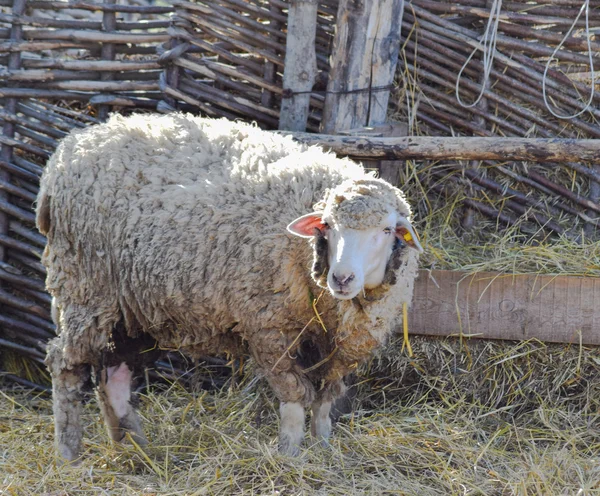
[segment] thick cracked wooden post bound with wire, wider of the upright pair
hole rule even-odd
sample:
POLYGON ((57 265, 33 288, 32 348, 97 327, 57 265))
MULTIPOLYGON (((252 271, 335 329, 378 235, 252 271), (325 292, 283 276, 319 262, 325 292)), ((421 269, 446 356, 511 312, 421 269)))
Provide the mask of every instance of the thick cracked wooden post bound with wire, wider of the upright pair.
POLYGON ((321 130, 382 124, 400 49, 403 0, 341 0, 321 130), (371 90, 372 88, 377 88, 371 90))

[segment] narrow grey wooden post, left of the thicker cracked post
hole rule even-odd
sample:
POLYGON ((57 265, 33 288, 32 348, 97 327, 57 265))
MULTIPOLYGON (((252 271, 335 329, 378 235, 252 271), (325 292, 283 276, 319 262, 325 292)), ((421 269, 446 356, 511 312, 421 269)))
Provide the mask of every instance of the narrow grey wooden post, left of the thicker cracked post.
POLYGON ((306 129, 310 91, 317 77, 316 32, 317 0, 292 0, 288 13, 279 129, 306 129))

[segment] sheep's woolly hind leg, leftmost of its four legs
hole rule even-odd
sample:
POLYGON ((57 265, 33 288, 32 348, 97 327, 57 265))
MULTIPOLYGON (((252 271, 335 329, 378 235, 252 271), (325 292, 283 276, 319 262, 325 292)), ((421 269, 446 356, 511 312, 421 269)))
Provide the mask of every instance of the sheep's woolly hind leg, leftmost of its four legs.
POLYGON ((89 368, 79 366, 52 374, 52 409, 55 443, 58 454, 72 462, 81 455, 81 410, 83 388, 89 368))

